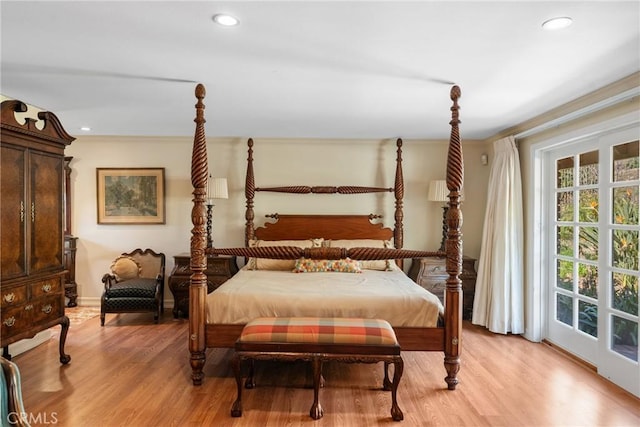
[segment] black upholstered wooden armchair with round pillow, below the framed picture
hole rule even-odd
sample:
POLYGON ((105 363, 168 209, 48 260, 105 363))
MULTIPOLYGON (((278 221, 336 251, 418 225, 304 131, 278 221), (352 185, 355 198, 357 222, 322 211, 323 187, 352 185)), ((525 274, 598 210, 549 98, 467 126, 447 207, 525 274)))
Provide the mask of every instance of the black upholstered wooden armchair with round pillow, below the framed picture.
POLYGON ((100 325, 106 313, 153 312, 154 321, 164 310, 165 256, 151 249, 123 253, 102 276, 104 291, 100 303, 100 325))

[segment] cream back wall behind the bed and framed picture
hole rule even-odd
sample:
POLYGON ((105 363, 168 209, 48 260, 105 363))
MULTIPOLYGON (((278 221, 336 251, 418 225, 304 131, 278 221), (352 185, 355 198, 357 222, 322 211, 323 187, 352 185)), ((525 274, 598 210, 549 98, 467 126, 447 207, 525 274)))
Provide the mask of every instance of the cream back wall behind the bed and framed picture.
MULTIPOLYGON (((64 124, 63 124, 64 125, 64 124)), ((464 138, 464 129, 462 129, 464 138)), ((77 136, 77 135, 76 135, 77 136)), ((152 248, 167 255, 169 276, 173 256, 188 252, 191 238, 192 138, 77 136, 66 150, 71 162, 72 233, 78 237, 76 281, 79 304, 99 305, 101 277, 120 253, 152 248), (166 224, 98 225, 96 168, 164 167, 166 224)), ((256 185, 363 185, 393 187, 396 146, 392 140, 273 140, 254 138, 256 185)), ((480 162, 490 146, 463 141, 465 156, 464 249, 478 257, 489 166, 480 162)), ((404 247, 435 250, 441 238, 442 210, 427 201, 430 180, 444 179, 446 141, 404 141, 404 247)), ((216 247, 243 246, 246 138, 208 141, 209 171, 226 177, 229 199, 214 208, 216 247)), ((267 213, 377 213, 393 227, 393 193, 366 195, 281 195, 257 193, 256 224, 267 213)), ((408 268, 407 263, 406 268, 408 268)), ((165 290, 167 305, 172 296, 165 290)))

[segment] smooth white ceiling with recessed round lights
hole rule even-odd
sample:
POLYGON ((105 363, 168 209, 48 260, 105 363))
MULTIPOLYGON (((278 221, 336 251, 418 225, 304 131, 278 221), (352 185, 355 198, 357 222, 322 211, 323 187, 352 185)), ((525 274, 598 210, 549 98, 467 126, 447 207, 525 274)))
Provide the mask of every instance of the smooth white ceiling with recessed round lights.
POLYGON ((67 132, 484 139, 640 70, 638 1, 6 1, 0 92, 67 132), (211 17, 227 12, 233 28, 211 17), (573 25, 544 31, 543 21, 573 25))

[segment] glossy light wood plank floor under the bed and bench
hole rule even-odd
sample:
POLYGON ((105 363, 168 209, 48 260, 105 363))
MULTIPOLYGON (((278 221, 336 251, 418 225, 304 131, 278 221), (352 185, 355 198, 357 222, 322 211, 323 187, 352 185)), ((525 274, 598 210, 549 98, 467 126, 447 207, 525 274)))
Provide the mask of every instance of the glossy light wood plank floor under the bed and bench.
POLYGON ((72 325, 71 363, 58 362, 57 336, 14 357, 32 416, 57 426, 639 426, 640 400, 545 344, 464 325, 457 390, 444 383, 441 353, 404 352, 398 391, 378 390, 382 365, 328 363, 320 392, 324 417, 309 417, 313 391, 304 364, 257 364, 258 387, 236 396, 230 350, 209 350, 205 380, 190 380, 187 321, 168 312, 107 315, 72 325))

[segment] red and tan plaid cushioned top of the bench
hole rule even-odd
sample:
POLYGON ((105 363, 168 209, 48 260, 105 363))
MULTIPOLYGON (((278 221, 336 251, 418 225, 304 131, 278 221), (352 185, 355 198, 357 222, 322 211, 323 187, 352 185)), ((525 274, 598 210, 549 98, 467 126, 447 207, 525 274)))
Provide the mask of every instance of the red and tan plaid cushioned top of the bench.
POLYGON ((342 317, 260 317, 245 325, 238 342, 398 345, 386 320, 342 317))

